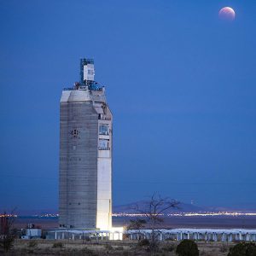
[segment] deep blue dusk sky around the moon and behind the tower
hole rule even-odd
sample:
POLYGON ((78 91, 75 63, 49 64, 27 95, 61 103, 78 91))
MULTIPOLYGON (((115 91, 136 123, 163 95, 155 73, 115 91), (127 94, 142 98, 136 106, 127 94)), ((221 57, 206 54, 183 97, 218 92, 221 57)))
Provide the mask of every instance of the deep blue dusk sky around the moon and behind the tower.
POLYGON ((81 57, 113 112, 113 205, 158 191, 256 208, 255 14, 255 0, 1 0, 0 211, 57 210, 61 90, 81 57))

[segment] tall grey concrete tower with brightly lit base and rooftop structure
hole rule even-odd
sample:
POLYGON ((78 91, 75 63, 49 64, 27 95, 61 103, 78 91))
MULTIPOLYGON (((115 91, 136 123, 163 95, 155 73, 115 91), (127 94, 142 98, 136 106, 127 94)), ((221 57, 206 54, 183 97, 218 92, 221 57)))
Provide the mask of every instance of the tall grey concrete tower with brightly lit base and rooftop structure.
POLYGON ((59 224, 112 227, 112 113, 94 61, 81 59, 80 82, 61 95, 59 224))

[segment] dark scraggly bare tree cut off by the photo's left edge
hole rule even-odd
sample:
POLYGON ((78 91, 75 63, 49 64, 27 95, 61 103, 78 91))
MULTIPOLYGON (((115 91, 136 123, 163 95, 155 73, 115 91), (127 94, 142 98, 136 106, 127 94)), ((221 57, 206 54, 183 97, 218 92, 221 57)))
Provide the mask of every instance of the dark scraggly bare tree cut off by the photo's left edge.
POLYGON ((0 247, 3 247, 4 251, 9 251, 14 245, 15 241, 15 210, 10 214, 6 212, 1 215, 1 226, 0 226, 0 247))

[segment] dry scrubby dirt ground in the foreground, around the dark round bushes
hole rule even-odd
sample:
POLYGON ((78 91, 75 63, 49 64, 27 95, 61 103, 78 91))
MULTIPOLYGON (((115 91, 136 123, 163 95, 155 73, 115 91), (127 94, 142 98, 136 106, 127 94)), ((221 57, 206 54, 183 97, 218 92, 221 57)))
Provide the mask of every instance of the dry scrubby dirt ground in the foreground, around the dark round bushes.
MULTIPOLYGON (((0 251, 0 255, 72 255, 72 256, 101 256, 101 255, 170 255, 174 256, 175 248, 178 241, 165 241, 160 243, 160 249, 157 253, 148 253, 147 247, 137 245, 137 241, 100 241, 90 242, 84 241, 64 241, 64 240, 36 240, 24 241, 16 240, 14 247, 9 253, 0 251), (59 244, 58 244, 59 243, 59 244), (54 247, 55 245, 55 247, 54 247), (62 245, 62 247, 58 247, 62 245)), ((198 241, 201 256, 226 256, 229 247, 234 246, 234 243, 222 242, 205 242, 198 241)))

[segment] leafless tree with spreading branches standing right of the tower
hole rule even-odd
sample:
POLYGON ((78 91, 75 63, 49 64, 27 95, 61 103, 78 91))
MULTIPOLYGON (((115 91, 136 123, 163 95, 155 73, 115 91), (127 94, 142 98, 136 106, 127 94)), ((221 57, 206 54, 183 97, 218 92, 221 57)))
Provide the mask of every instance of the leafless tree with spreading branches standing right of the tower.
POLYGON ((140 212, 146 218, 151 230, 149 250, 154 252, 157 250, 159 241, 159 231, 156 230, 157 225, 164 222, 164 216, 168 210, 175 208, 179 202, 168 197, 163 198, 159 193, 154 192, 149 201, 145 201, 143 205, 136 205, 134 209, 140 212))

